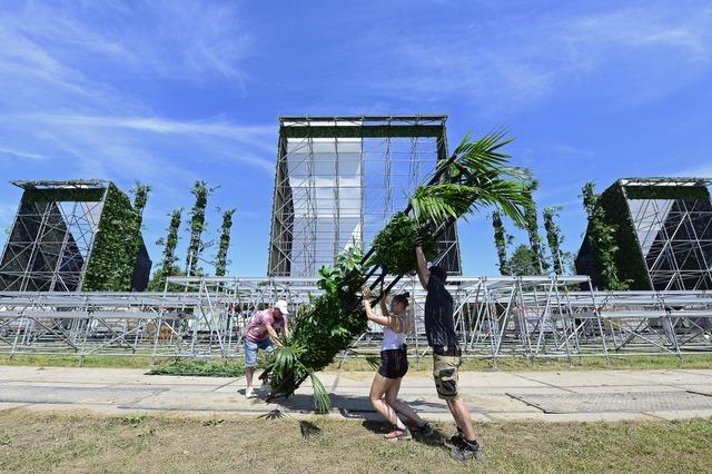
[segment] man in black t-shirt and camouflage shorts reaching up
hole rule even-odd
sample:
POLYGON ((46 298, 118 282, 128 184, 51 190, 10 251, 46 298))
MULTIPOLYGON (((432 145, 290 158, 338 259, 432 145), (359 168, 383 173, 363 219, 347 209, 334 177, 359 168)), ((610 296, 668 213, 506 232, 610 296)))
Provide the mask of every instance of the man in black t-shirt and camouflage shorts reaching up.
POLYGON ((478 458, 479 444, 472 426, 472 415, 457 392, 457 369, 462 363, 461 350, 453 318, 453 295, 445 288, 447 273, 444 268, 427 267, 423 249, 416 243, 417 273, 421 285, 427 292, 425 298, 425 334, 433 348, 433 377, 437 396, 447 403, 457 434, 451 438, 455 447, 451 456, 459 461, 478 458))

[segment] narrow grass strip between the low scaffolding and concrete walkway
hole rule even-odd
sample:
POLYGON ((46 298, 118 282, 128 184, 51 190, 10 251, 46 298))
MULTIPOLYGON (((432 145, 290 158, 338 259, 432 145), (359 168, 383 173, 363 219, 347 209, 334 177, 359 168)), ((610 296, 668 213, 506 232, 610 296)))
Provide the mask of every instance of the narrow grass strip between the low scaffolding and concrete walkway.
MULTIPOLYGON (((375 353, 374 353, 375 354, 375 353)), ((158 366, 166 366, 175 362, 186 362, 187 359, 165 358, 159 359, 158 366)), ((236 357, 233 363, 241 363, 241 357, 236 357)), ((215 365, 225 365, 216 361, 215 365)), ((411 358, 412 372, 431 372, 433 368, 429 356, 416 361, 411 358)), ((0 365, 28 365, 44 367, 122 367, 122 368, 151 368, 151 359, 146 356, 91 356, 79 361, 76 356, 50 356, 50 355, 16 355, 10 358, 8 355, 0 355, 0 365)), ((573 364, 566 359, 537 359, 534 364, 521 357, 501 358, 497 362, 500 371, 528 372, 528 371, 591 371, 591 369, 664 369, 664 368, 712 368, 712 354, 695 354, 684 356, 683 364, 678 357, 672 355, 656 356, 626 356, 611 357, 610 365, 606 365, 603 357, 576 357, 573 364)), ((349 372, 373 372, 363 357, 352 357, 336 362, 326 368, 329 371, 349 372)), ((494 371, 492 362, 488 359, 465 359, 462 371, 494 371)), ((219 371, 218 371, 219 372, 219 371)))

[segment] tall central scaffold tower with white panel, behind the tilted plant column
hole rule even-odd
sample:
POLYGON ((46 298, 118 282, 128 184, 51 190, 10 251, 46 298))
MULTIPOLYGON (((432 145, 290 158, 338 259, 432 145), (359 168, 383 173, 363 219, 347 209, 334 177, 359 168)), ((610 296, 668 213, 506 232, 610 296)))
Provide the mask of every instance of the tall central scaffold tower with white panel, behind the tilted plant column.
MULTIPOLYGON (((447 158, 446 116, 280 117, 268 275, 314 277, 350 243, 369 248, 447 158)), ((439 239, 452 275, 456 227, 439 239)))

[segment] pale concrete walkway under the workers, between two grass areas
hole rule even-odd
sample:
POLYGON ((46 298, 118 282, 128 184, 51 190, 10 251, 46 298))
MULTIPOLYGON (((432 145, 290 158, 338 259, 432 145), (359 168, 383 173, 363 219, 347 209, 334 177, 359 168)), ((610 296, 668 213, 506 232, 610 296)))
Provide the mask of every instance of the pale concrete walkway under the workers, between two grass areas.
MULTIPOLYGON (((326 373, 332 416, 376 418, 367 399, 372 373, 326 373)), ((140 369, 0 366, 0 411, 106 414, 276 415, 312 413, 305 384, 291 398, 246 399, 244 378, 149 376, 140 369)), ((712 369, 467 372, 462 393, 477 422, 589 422, 712 417, 712 369)), ((451 419, 427 374, 408 374, 400 397, 427 419, 451 419)))

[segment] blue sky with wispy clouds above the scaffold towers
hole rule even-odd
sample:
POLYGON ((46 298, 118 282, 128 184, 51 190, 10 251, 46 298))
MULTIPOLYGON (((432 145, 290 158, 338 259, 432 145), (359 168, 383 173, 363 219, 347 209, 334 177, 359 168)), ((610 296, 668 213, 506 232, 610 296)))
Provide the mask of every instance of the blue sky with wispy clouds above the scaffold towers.
MULTIPOLYGON (((3 2, 0 226, 10 179, 140 179, 157 261, 205 179, 212 231, 238 209, 231 273, 264 275, 279 115, 447 113, 451 146, 511 130, 573 251, 584 181, 712 176, 711 83, 703 1, 3 2)), ((485 216, 459 236, 465 273, 496 274, 485 216)))

